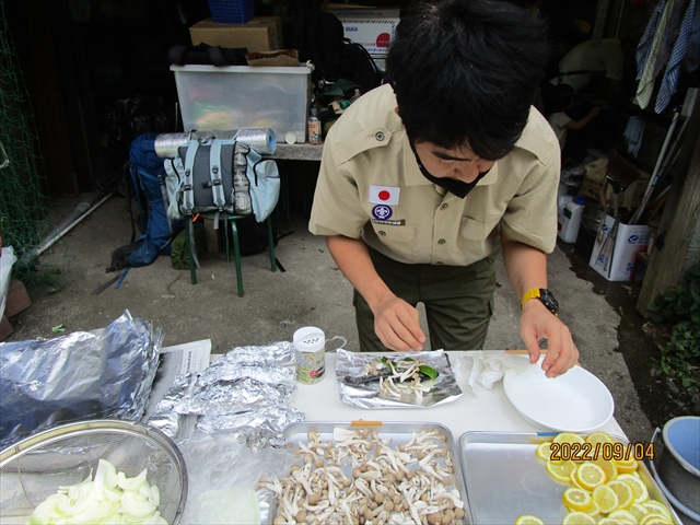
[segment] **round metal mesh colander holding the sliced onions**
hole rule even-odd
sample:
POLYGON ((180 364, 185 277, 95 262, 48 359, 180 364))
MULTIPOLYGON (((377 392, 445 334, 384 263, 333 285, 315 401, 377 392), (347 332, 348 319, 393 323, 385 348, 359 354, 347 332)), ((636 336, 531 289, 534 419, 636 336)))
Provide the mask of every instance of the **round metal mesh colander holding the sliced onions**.
POLYGON ((161 492, 159 511, 179 523, 187 498, 182 454, 163 432, 132 421, 101 419, 69 423, 32 435, 0 453, 0 523, 26 524, 34 509, 59 486, 94 475, 107 459, 127 477, 147 469, 161 492))

